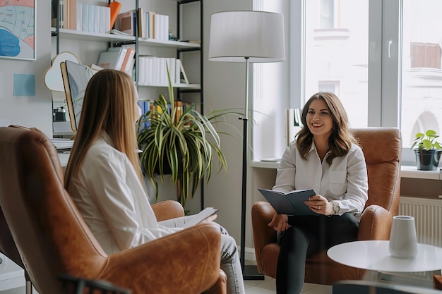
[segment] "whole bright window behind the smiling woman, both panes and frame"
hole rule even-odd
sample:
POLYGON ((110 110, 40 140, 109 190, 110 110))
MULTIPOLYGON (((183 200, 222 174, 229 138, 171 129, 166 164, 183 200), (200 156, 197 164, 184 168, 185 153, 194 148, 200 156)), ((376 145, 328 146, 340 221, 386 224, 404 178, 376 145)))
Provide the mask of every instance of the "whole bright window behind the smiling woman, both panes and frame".
POLYGON ((402 163, 414 164, 414 134, 442 131, 442 1, 291 4, 297 20, 290 48, 296 87, 290 97, 301 101, 290 103, 302 106, 319 90, 335 92, 352 127, 399 127, 402 163))

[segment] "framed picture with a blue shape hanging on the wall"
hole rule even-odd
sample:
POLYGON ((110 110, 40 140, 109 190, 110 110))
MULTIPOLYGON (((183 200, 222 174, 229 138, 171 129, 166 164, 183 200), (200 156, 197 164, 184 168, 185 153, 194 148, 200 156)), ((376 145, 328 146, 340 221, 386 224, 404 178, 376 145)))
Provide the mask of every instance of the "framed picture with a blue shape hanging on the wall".
POLYGON ((35 60, 35 1, 0 1, 0 58, 35 60))

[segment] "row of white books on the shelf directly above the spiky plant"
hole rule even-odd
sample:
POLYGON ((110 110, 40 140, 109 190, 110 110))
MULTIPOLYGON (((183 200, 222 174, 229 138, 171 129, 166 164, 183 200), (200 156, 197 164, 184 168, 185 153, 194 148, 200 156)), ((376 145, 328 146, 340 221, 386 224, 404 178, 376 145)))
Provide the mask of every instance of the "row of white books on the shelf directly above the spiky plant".
POLYGON ((138 83, 140 85, 168 85, 167 67, 172 85, 189 84, 183 63, 172 57, 139 56, 138 83))

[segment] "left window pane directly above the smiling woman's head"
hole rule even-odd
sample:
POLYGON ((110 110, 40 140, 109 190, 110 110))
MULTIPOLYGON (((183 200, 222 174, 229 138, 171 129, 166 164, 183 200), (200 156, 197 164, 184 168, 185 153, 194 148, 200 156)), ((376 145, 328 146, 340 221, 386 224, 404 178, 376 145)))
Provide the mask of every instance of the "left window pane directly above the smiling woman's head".
POLYGON ((336 2, 340 5, 335 7, 334 0, 305 1, 304 98, 333 92, 347 109, 352 126, 366 127, 369 0, 336 2))

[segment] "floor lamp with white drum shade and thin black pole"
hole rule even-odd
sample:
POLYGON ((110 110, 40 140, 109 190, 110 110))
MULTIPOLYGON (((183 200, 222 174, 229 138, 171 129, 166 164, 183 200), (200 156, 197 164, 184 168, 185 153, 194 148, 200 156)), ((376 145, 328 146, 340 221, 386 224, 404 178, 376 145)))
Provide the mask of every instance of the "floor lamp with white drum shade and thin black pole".
POLYGON ((284 17, 265 11, 214 13, 210 23, 209 60, 246 63, 246 107, 243 121, 241 268, 245 280, 261 280, 255 266, 244 264, 246 247, 247 147, 249 145, 249 63, 285 60, 284 17))

